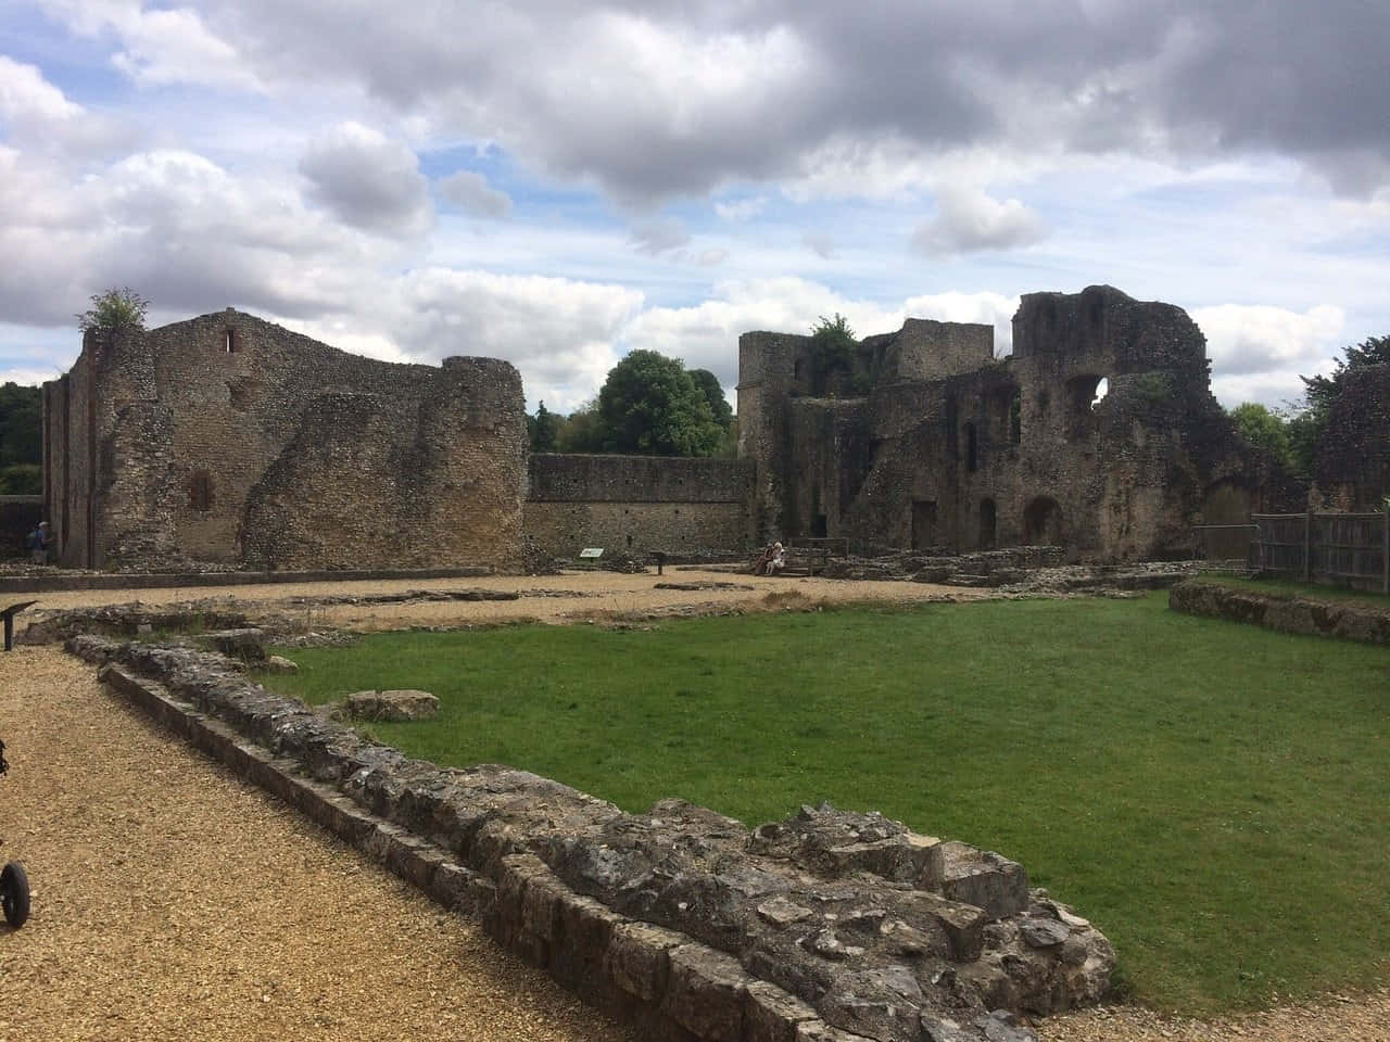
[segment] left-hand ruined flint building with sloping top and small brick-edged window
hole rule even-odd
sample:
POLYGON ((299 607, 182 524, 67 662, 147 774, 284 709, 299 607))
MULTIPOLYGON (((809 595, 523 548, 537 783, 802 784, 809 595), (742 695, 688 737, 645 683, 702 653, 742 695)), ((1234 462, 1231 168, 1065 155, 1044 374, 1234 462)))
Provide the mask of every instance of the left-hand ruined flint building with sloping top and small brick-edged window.
POLYGON ((228 308, 107 342, 44 385, 70 567, 510 567, 525 406, 505 361, 374 361, 228 308))

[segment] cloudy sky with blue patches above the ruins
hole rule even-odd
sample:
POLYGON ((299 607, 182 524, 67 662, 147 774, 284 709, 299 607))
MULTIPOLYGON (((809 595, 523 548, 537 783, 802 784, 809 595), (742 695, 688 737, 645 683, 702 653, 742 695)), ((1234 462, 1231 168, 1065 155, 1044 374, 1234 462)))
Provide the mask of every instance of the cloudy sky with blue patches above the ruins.
POLYGON ((88 297, 517 364, 1187 308, 1227 406, 1390 333, 1384 0, 3 0, 0 379, 88 297))

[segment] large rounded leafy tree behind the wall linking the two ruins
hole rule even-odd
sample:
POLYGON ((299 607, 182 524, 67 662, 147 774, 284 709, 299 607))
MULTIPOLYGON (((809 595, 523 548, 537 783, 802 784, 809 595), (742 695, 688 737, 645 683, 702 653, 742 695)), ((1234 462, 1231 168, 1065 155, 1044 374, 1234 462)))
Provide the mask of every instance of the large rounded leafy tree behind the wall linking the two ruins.
POLYGON ((723 428, 677 358, 630 353, 599 390, 603 449, 649 456, 712 456, 723 428))

